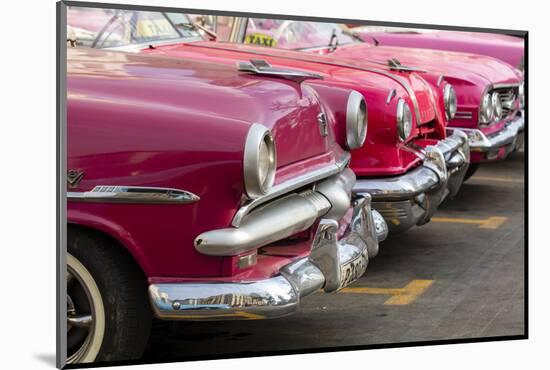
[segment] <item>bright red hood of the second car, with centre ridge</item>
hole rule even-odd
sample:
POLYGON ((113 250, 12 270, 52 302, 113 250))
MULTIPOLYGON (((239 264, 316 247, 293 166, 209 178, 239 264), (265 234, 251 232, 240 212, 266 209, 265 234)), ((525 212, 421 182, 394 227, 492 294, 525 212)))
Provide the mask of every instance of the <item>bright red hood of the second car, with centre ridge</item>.
POLYGON ((288 67, 321 74, 325 78, 348 79, 354 84, 369 84, 385 96, 395 85, 406 90, 421 123, 436 118, 436 103, 428 84, 415 73, 390 71, 386 66, 339 57, 303 53, 292 50, 262 48, 250 45, 220 42, 193 42, 163 45, 144 53, 180 58, 203 58, 235 65, 250 59, 268 59, 278 67, 288 67), (391 80, 391 81, 389 81, 391 80))

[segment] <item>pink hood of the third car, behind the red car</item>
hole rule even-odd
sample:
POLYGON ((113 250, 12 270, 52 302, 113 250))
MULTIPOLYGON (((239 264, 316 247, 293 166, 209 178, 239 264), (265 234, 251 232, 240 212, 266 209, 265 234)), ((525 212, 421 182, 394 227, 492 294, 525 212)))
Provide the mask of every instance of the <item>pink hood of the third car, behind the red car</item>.
POLYGON ((462 79, 482 86, 519 82, 516 72, 510 65, 483 55, 368 44, 341 47, 335 54, 353 59, 366 58, 382 64, 387 63, 389 59, 397 58, 401 64, 409 67, 417 67, 428 73, 462 79))

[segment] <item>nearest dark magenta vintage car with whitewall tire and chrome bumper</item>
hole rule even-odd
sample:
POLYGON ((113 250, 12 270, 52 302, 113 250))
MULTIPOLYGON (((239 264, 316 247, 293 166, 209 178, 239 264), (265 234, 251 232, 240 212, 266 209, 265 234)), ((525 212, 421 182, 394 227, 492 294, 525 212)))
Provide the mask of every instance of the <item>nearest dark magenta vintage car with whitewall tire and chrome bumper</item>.
POLYGON ((279 317, 363 275, 387 230, 332 128, 363 144, 366 106, 310 78, 68 49, 69 363, 139 358, 152 314, 279 317))

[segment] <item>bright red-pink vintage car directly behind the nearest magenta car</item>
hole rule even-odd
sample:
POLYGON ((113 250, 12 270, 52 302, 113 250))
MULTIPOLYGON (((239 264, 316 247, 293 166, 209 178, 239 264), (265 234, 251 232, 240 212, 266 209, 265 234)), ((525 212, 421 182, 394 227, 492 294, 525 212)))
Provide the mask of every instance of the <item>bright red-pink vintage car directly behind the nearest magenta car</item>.
POLYGON ((336 107, 336 138, 340 145, 352 149, 351 168, 359 178, 354 191, 372 195, 373 207, 382 213, 392 232, 428 222, 445 196, 455 195, 463 181, 469 149, 464 133, 446 136, 445 115, 454 110, 453 89, 447 82, 432 88, 414 71, 392 71, 387 66, 294 51, 197 41, 197 30, 183 14, 120 11, 113 17, 106 17, 108 26, 96 27, 102 31, 93 40, 77 43, 238 65, 243 73, 269 76, 277 75, 279 69, 291 69, 317 76, 308 84, 328 106, 336 107), (138 31, 141 22, 155 24, 158 29, 149 28, 149 33, 143 34, 138 31), (340 91, 349 89, 357 92, 356 102, 364 100, 365 109, 368 106, 369 128, 360 133, 366 137, 364 146, 349 145, 346 135, 350 123, 342 119, 346 102, 341 100, 340 91))

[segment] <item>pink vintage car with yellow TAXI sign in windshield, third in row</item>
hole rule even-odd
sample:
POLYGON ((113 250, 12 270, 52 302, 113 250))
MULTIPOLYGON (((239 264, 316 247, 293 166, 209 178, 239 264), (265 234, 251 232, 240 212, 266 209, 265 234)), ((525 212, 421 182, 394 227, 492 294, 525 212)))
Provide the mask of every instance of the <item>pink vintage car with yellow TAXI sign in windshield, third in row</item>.
POLYGON ((482 55, 376 46, 333 23, 242 18, 234 24, 230 41, 330 54, 390 69, 411 68, 435 86, 451 83, 457 108, 448 117, 448 127, 466 132, 472 151, 466 178, 479 163, 503 159, 523 144, 523 75, 507 63, 482 55))

